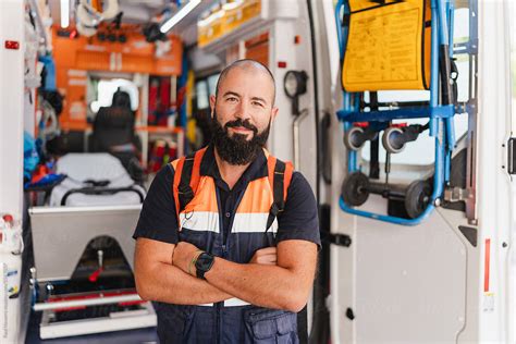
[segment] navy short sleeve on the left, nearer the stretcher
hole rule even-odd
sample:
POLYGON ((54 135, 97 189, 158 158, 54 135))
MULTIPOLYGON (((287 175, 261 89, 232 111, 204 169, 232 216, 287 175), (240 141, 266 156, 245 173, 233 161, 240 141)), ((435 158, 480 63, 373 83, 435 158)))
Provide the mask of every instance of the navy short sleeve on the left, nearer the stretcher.
POLYGON ((146 237, 177 244, 177 216, 172 195, 173 180, 174 171, 170 164, 156 174, 144 200, 133 238, 146 237))

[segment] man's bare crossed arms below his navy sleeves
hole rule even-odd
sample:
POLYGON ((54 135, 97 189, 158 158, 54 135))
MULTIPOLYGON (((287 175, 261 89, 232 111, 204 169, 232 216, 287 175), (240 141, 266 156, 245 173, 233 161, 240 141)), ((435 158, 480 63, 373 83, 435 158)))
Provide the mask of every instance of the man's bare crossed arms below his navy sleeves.
MULTIPOLYGON (((136 290, 143 299, 179 305, 218 303, 237 297, 256 306, 299 311, 316 271, 317 245, 288 239, 257 250, 249 263, 216 258, 206 281, 188 274, 197 248, 139 237, 136 241, 136 290)), ((195 269, 194 269, 195 270, 195 269)), ((195 272, 194 272, 195 273, 195 272)))

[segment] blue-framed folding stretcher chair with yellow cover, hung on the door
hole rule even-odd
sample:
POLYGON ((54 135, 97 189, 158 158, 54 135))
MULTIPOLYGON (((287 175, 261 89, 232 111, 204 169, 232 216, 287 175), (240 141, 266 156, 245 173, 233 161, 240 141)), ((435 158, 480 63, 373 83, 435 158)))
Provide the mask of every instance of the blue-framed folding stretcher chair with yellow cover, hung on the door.
POLYGON ((344 126, 348 172, 342 185, 341 209, 416 225, 442 202, 455 146, 453 116, 462 111, 454 97, 452 4, 444 0, 340 0, 335 20, 344 89, 343 108, 336 114, 344 126), (429 89, 430 100, 385 105, 372 99, 377 90, 395 89, 429 89), (370 99, 365 106, 366 93, 370 99), (393 123, 411 119, 427 119, 428 123, 393 123), (391 155, 401 152, 425 131, 434 138, 433 175, 409 184, 390 184, 391 155), (386 151, 384 182, 374 181, 378 172, 374 177, 363 173, 358 153, 368 140, 378 145, 380 133, 386 151), (383 214, 360 209, 370 194, 403 204, 402 211, 393 214, 389 209, 383 214))

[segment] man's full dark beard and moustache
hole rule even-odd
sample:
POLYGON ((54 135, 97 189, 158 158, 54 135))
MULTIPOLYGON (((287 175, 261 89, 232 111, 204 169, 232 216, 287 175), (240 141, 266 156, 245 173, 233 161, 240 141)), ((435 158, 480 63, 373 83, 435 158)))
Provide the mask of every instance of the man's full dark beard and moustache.
POLYGON ((258 128, 250 124, 249 120, 242 121, 241 119, 230 121, 222 127, 217 120, 217 113, 214 113, 211 119, 212 143, 222 160, 230 164, 247 164, 254 161, 266 146, 270 127, 271 123, 269 122, 267 128, 258 134, 258 128), (247 135, 236 133, 230 136, 228 130, 235 126, 243 126, 253 131, 253 138, 247 140, 247 135))

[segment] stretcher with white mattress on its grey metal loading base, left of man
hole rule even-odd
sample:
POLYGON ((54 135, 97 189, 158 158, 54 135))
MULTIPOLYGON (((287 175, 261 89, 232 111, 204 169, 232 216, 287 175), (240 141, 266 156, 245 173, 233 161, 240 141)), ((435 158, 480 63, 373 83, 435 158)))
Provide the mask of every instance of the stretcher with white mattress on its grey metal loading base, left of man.
POLYGON ((56 172, 66 177, 50 206, 29 209, 40 337, 155 327, 133 274, 132 234, 145 189, 109 153, 69 153, 56 172))

